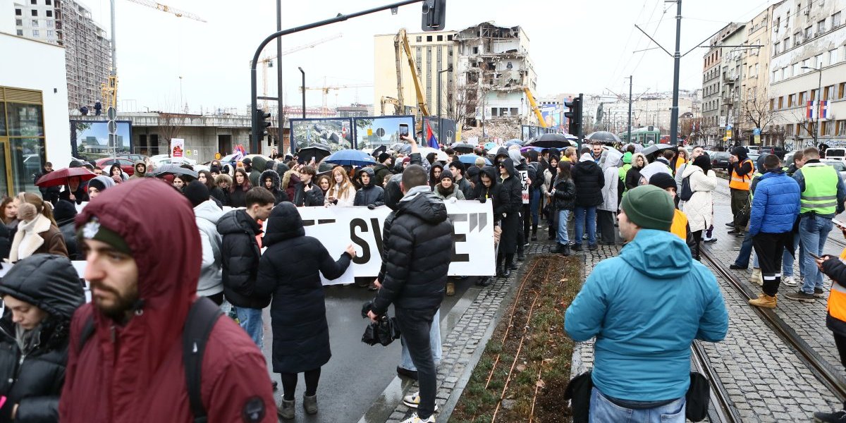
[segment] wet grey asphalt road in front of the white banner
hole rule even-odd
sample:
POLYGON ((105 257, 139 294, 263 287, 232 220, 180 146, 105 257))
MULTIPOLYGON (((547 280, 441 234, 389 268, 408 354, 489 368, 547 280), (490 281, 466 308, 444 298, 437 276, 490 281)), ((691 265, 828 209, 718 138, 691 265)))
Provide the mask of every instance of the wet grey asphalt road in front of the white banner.
MULTIPOLYGON (((455 283, 455 295, 446 297, 441 305, 441 338, 448 334, 448 313, 464 295, 468 297, 478 293, 475 288, 476 277, 465 280, 450 279, 455 283)), ((302 405, 305 381, 299 375, 297 383, 296 417, 285 422, 354 422, 358 421, 382 394, 382 391, 397 376, 400 343, 395 341, 387 347, 370 346, 361 342, 368 321, 361 318, 361 305, 375 296, 375 292, 354 285, 349 287, 331 286, 325 288, 327 321, 329 322, 329 342, 332 346, 332 359, 321 369, 320 385, 317 388, 317 404, 320 411, 316 415, 306 415, 302 405)), ((470 299, 472 301, 472 299, 470 299)), ((389 315, 393 316, 392 310, 389 315)), ((264 310, 264 349, 267 368, 272 371, 272 327, 270 307, 264 310)), ((272 373, 274 381, 279 382, 277 374, 272 373)), ((282 398, 282 383, 274 395, 277 404, 282 398)), ((275 410, 273 410, 275 413, 275 410)))

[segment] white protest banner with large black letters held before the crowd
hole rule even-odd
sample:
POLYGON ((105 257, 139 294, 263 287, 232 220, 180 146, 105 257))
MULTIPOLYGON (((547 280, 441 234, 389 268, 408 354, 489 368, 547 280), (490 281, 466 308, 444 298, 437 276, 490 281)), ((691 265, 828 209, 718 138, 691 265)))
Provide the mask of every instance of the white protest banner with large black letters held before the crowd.
MULTIPOLYGON (((492 276, 495 273, 493 250, 493 211, 491 202, 447 202, 453 221, 455 250, 449 265, 450 276, 492 276)), ((299 207, 305 234, 319 239, 332 257, 338 257, 353 244, 357 256, 342 277, 326 285, 353 283, 354 277, 376 277, 382 266, 382 228, 391 212, 387 206, 299 207)))

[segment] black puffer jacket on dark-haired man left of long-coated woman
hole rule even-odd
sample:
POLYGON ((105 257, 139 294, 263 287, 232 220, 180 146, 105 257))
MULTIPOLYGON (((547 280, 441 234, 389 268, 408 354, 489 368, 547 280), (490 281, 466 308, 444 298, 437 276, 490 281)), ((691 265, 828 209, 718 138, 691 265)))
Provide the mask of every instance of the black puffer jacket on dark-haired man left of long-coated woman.
POLYGON ((246 211, 233 210, 217 221, 217 232, 223 237, 223 295, 238 307, 265 308, 270 296, 254 292, 261 257, 255 241, 255 235, 261 233, 259 224, 246 211))

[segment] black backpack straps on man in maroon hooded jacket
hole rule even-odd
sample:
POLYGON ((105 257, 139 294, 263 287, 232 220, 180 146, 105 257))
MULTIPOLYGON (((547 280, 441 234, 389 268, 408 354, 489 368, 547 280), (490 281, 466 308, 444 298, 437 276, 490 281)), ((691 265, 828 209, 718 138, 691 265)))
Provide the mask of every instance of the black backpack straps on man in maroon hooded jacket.
MULTIPOLYGON (((182 329, 182 362, 185 366, 185 382, 188 387, 188 399, 195 423, 206 422, 206 407, 200 394, 202 382, 203 353, 206 341, 217 318, 223 313, 211 299, 200 297, 188 311, 185 326, 182 329)), ((94 334, 94 316, 88 316, 80 332, 80 343, 76 346, 77 354, 85 347, 85 342, 94 334)))

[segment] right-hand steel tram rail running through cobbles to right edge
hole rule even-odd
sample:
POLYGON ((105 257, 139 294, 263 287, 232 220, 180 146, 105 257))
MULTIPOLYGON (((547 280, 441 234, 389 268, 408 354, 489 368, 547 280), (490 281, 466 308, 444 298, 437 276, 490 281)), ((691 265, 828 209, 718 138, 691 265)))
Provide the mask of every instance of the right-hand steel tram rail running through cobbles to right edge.
MULTIPOLYGON (((719 261, 717 257, 711 254, 708 248, 703 248, 701 254, 707 261, 711 262, 711 267, 719 274, 720 277, 726 280, 738 294, 745 300, 757 298, 752 289, 742 283, 739 277, 735 276, 733 272, 719 261)), ((751 306, 750 306, 751 307, 751 306)), ((790 325, 782 320, 776 314, 775 310, 761 307, 752 307, 758 316, 766 322, 766 325, 771 327, 773 332, 776 332, 779 338, 787 343, 790 348, 794 349, 799 359, 805 362, 810 371, 816 378, 828 388, 829 391, 838 397, 838 401, 843 402, 846 399, 846 380, 840 375, 840 371, 832 367, 825 359, 821 357, 808 343, 802 339, 799 334, 794 331, 790 325)))

